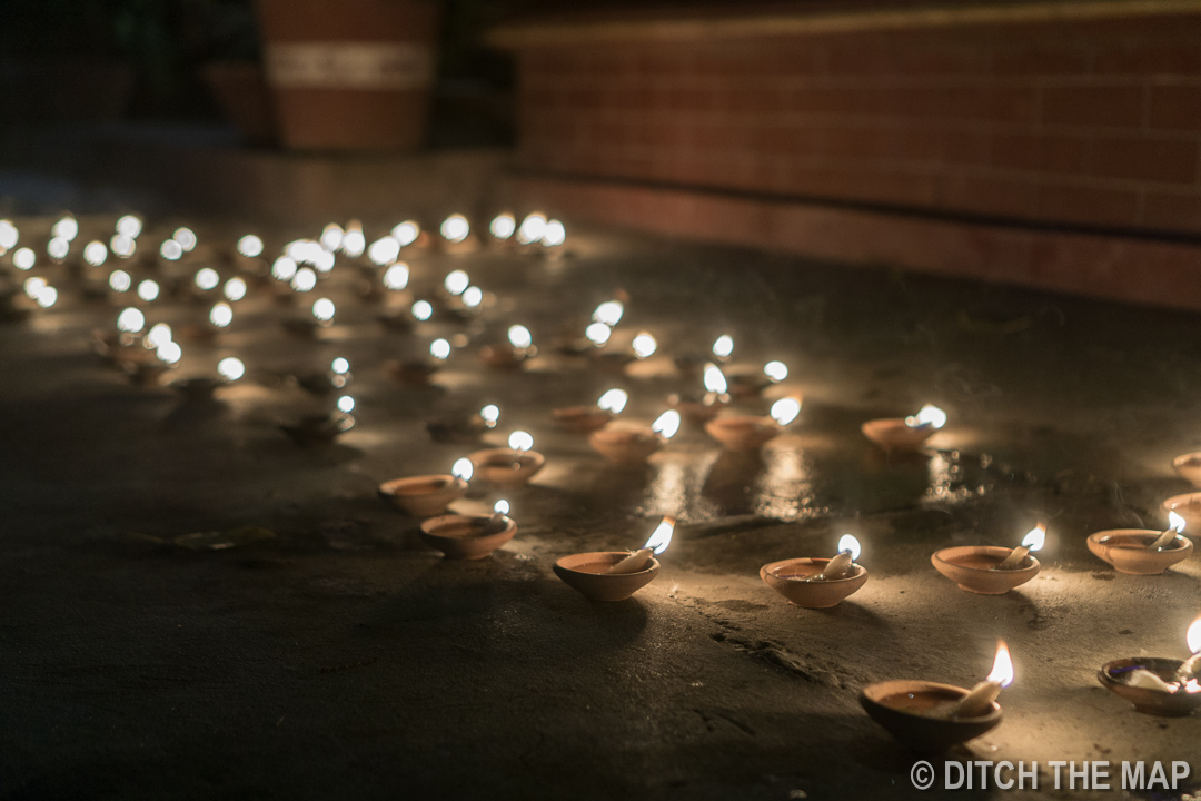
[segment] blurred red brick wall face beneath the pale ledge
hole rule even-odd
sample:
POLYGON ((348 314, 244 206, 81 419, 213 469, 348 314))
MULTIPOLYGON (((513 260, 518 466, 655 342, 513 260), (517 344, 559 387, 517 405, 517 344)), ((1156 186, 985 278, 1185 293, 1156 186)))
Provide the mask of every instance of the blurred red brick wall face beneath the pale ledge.
POLYGON ((1201 13, 518 61, 539 171, 1201 234, 1201 13))

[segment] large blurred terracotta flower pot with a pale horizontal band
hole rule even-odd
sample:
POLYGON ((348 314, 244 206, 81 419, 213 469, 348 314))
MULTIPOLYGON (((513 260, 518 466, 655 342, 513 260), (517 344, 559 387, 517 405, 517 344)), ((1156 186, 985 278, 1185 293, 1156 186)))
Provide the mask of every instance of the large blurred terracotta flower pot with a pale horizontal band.
POLYGON ((258 0, 280 138, 295 149, 422 144, 438 5, 423 0, 258 0))

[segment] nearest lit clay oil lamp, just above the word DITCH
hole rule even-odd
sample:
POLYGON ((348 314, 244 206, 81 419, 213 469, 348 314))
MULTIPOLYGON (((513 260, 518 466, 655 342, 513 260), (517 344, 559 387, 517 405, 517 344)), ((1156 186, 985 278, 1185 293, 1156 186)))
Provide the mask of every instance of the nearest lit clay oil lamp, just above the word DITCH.
POLYGON ((901 745, 938 753, 996 728, 1002 719, 997 697, 1012 681, 1014 663, 1002 641, 992 673, 970 691, 932 681, 882 681, 865 687, 859 703, 901 745))

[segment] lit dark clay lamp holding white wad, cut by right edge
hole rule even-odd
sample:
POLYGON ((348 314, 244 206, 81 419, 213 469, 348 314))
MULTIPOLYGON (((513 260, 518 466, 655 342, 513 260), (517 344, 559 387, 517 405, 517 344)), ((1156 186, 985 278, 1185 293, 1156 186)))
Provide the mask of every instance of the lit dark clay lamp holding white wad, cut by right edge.
POLYGON ((1187 634, 1188 659, 1116 659, 1097 673, 1101 685, 1146 715, 1183 717, 1201 706, 1201 618, 1187 634))

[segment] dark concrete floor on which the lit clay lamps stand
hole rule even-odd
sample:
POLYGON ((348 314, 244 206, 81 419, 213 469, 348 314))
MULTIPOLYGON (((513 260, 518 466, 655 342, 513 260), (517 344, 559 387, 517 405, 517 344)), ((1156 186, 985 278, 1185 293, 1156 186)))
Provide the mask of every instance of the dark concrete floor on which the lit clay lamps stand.
MULTIPOLYGON (((1201 721, 1139 715, 1095 673, 1187 656, 1201 568, 1118 575, 1083 542, 1160 526, 1158 503, 1188 489, 1170 460, 1201 449, 1195 316, 605 232, 573 232, 572 250, 414 257, 416 295, 462 268, 496 300, 482 324, 413 335, 375 322, 348 268, 322 286, 339 304, 324 341, 289 339, 279 318, 295 312, 251 295, 215 345, 184 345, 181 376, 246 361, 252 379, 216 404, 102 365, 89 336, 116 307, 50 270, 59 306, 0 334, 0 796, 938 797, 912 789, 915 757, 858 693, 970 686, 998 638, 1017 668, 1005 721, 950 759, 1178 759, 1196 777, 1201 721), (637 419, 692 387, 665 355, 615 379, 552 353, 564 322, 579 330, 619 289, 631 301, 615 340, 645 328, 670 354, 730 333, 735 363, 784 359, 793 375, 773 391, 805 393, 789 434, 747 459, 685 430, 643 471, 557 432, 552 407, 610 385, 637 419), (480 367, 477 343, 513 322, 544 355, 480 367), (437 385, 383 373, 454 333, 472 345, 437 385), (319 402, 273 375, 336 355, 353 365, 359 425, 299 449, 274 424, 319 402), (466 455, 424 424, 485 402, 502 410, 490 436, 532 431, 548 466, 507 495, 509 545, 446 562, 375 489, 466 455), (861 437, 861 422, 925 402, 950 414, 927 456, 889 459, 861 437), (640 544, 669 513, 676 540, 633 599, 590 603, 551 573, 566 554, 640 544), (930 564, 951 544, 1016 544, 1040 516, 1044 570, 1020 591, 969 594, 930 564), (171 542, 247 525, 274 536, 171 542), (848 531, 872 578, 839 606, 797 609, 759 580, 766 562, 832 555, 848 531)), ((204 313, 154 309, 151 322, 204 313)), ((479 488, 456 506, 498 497, 479 488)))

